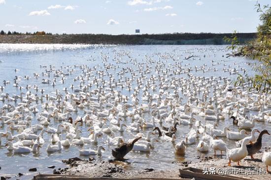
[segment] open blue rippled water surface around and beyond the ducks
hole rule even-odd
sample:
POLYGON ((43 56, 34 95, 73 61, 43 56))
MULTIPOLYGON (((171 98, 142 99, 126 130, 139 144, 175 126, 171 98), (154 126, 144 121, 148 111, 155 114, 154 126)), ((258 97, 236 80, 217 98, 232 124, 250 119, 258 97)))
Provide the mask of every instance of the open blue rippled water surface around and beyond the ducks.
MULTIPOLYGON (((104 71, 103 64, 112 64, 116 67, 116 69, 109 69, 107 72, 115 76, 116 79, 119 76, 116 72, 120 72, 127 67, 133 68, 135 71, 137 67, 134 65, 135 60, 137 62, 142 63, 143 70, 146 70, 145 63, 149 59, 153 60, 153 63, 149 64, 149 69, 151 70, 150 73, 146 73, 146 79, 150 77, 152 74, 158 76, 157 72, 155 72, 155 67, 157 67, 157 62, 159 61, 160 68, 166 69, 173 69, 176 70, 178 67, 177 65, 181 64, 184 68, 192 67, 193 73, 197 76, 222 76, 222 77, 230 77, 233 80, 236 79, 237 75, 230 75, 229 72, 222 71, 223 68, 226 69, 233 69, 237 68, 238 70, 244 68, 247 70, 248 74, 253 74, 254 72, 251 68, 247 65, 247 63, 251 60, 242 58, 242 57, 231 57, 226 58, 226 54, 228 50, 226 50, 226 46, 215 46, 215 45, 137 45, 137 46, 103 46, 103 45, 21 45, 21 44, 14 44, 14 45, 7 45, 7 44, 0 44, 0 85, 2 85, 3 80, 10 80, 11 84, 6 85, 4 89, 4 93, 9 93, 10 96, 13 94, 20 94, 20 90, 12 86, 13 79, 15 75, 24 77, 25 75, 30 75, 33 77, 33 73, 39 73, 40 77, 38 79, 30 78, 29 80, 25 80, 22 78, 22 81, 19 82, 20 86, 26 87, 27 85, 34 85, 36 84, 39 89, 44 89, 45 94, 52 94, 57 89, 59 89, 63 94, 63 88, 69 87, 71 84, 74 86, 78 86, 80 84, 79 81, 74 82, 74 77, 81 74, 79 68, 74 68, 77 70, 74 74, 66 76, 67 79, 65 83, 62 84, 60 82, 60 78, 57 79, 57 85, 52 87, 48 84, 41 84, 42 77, 41 72, 45 72, 46 68, 40 68, 41 66, 49 66, 52 65, 55 67, 56 70, 60 69, 60 67, 67 67, 67 66, 74 66, 74 65, 87 65, 90 68, 97 67, 97 71, 101 70, 104 71), (186 56, 194 55, 195 58, 191 58, 189 60, 184 60, 186 56), (205 55, 205 57, 204 57, 205 55), (224 55, 224 57, 223 57, 224 55), (102 56, 108 56, 107 62, 102 62, 102 56), (165 58, 166 57, 166 58, 165 58), (200 68, 203 64, 206 65, 206 70, 210 68, 210 71, 202 72, 202 71, 195 71, 194 67, 197 66, 200 68), (224 66, 225 64, 225 66, 224 66), (229 68, 230 66, 230 68, 229 68), (216 68, 217 71, 213 71, 216 68), (15 69, 19 69, 20 71, 15 72, 15 69)), ((47 68, 48 69, 48 68, 47 68)), ((64 70, 64 72, 67 70, 64 70)), ((136 72, 139 74, 139 72, 136 72)), ((242 73, 242 72, 240 72, 242 73)), ((99 75, 93 73, 94 76, 99 78, 99 75)), ((125 73, 123 74, 123 79, 125 77, 131 77, 131 74, 125 73)), ((185 77, 188 78, 187 73, 182 73, 178 75, 172 75, 168 78, 172 77, 185 77)), ((50 79, 53 79, 53 74, 51 74, 50 79)), ((104 77, 105 79, 108 76, 104 77)), ((133 88, 135 87, 135 82, 133 84, 133 88)), ((78 88, 78 87, 77 87, 78 88)), ((96 87, 92 87, 94 89, 96 87)), ((133 89, 132 88, 132 89, 133 89)), ((129 92, 126 88, 117 88, 116 90, 120 90, 122 94, 130 96, 133 94, 133 91, 129 92)), ((35 92, 33 89, 31 90, 32 93, 37 93, 40 95, 40 92, 35 92)), ((71 92, 71 90, 69 90, 71 92)), ((170 92, 172 89, 170 89, 170 92)), ((23 90, 26 92, 26 89, 23 90)), ((142 93, 142 91, 141 91, 142 93)), ((180 94, 181 96, 181 94, 180 94)), ((139 95, 140 97, 140 95, 139 95)), ((186 97, 184 97, 184 102, 186 102, 186 97)), ((44 99, 45 101, 45 99, 44 99)), ((19 102, 19 101, 18 101, 19 102)), ((17 102, 17 103, 18 103, 17 102)), ((128 103, 131 103, 129 100, 128 103)), ((140 102, 141 103, 141 102, 140 102)), ((145 103, 145 102, 144 102, 145 103)), ((12 103, 11 103, 12 104, 12 103)), ((41 103, 38 102, 37 107, 40 107, 41 103)), ((0 103, 0 106, 3 106, 0 103)), ((129 109, 131 110, 131 109, 129 109)), ((40 112, 39 112, 40 113, 40 112)), ((250 112, 253 113, 253 112, 250 112)), ((258 113, 258 112, 257 112, 258 113)), ((84 112, 79 110, 77 114, 72 113, 72 117, 75 119, 77 115, 83 115, 84 112)), ((36 120, 38 114, 32 114, 34 119, 32 120, 32 125, 38 124, 39 122, 36 120)), ((145 114, 144 116, 147 121, 150 121, 150 115, 145 114)), ((196 116, 196 119, 202 119, 202 117, 196 116)), ((227 118, 226 118, 227 119, 227 118)), ((204 123, 205 121, 202 120, 204 123)), ((59 122, 51 120, 51 126, 56 127, 59 122)), ((126 120, 125 123, 129 125, 130 120, 126 120)), ((213 123, 213 121, 210 121, 213 123)), ((237 131, 237 127, 232 125, 232 121, 218 121, 217 122, 219 127, 217 129, 222 129, 224 126, 229 126, 230 129, 237 131)), ((0 124, 0 132, 4 132, 7 125, 0 124)), ((268 129, 271 131, 270 126, 263 122, 256 123, 256 127, 259 130, 268 129)), ((88 133, 86 131, 88 127, 84 124, 80 127, 82 129, 82 137, 87 137, 88 133)), ((176 143, 180 142, 184 139, 185 135, 190 131, 192 126, 189 125, 181 125, 178 127, 178 131, 176 133, 176 143)), ((143 130, 142 132, 146 134, 149 130, 143 130)), ((40 131, 37 132, 39 134, 40 131)), ((13 135, 17 132, 14 131, 13 135)), ((136 134, 136 133, 132 133, 136 134)), ((123 133, 116 133, 116 136, 122 135, 125 140, 131 139, 132 135, 130 132, 124 131, 123 133)), ((33 175, 33 173, 29 173, 28 169, 36 167, 38 169, 37 172, 42 173, 51 173, 52 169, 48 169, 47 166, 55 165, 56 167, 64 167, 61 160, 67 159, 70 157, 79 156, 78 149, 81 148, 93 148, 96 149, 97 146, 94 144, 85 144, 83 147, 71 145, 69 148, 63 149, 61 152, 55 152, 48 154, 46 152, 46 147, 51 139, 51 136, 44 134, 45 144, 40 148, 39 153, 29 153, 29 154, 21 154, 16 155, 12 152, 9 152, 5 147, 4 144, 6 140, 2 139, 2 144, 0 146, 0 175, 6 176, 16 176, 19 172, 23 173, 24 175, 21 179, 28 179, 33 175)), ((103 145, 106 151, 102 154, 102 157, 97 157, 100 159, 112 159, 111 157, 111 148, 114 146, 108 146, 104 144, 107 136, 104 134, 102 138, 99 138, 98 145, 103 145)), ((235 146, 233 141, 223 139, 228 145, 229 148, 235 146)), ((197 155, 205 155, 196 150, 196 146, 199 140, 197 140, 196 144, 188 145, 186 150, 185 157, 179 157, 174 155, 173 149, 174 145, 171 142, 160 141, 160 143, 155 144, 155 148, 150 151, 150 153, 138 153, 138 152, 130 152, 126 158, 129 159, 128 161, 131 162, 129 164, 129 168, 134 169, 145 169, 145 168, 154 168, 154 169, 169 169, 172 167, 176 167, 176 162, 181 161, 197 161, 198 159, 195 158, 197 155), (174 163, 172 163, 174 162, 174 163)), ((263 146, 270 145, 269 137, 264 138, 263 146)), ((212 150, 209 150, 207 154, 213 154, 212 150)), ((87 158, 87 157, 82 157, 87 158)), ((34 173, 35 174, 35 173, 34 173)))

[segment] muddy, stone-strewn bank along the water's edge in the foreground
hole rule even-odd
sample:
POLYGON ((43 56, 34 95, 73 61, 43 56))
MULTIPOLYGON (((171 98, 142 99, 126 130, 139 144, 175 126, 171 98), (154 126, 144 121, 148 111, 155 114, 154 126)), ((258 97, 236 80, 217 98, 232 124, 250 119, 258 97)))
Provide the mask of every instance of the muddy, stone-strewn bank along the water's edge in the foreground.
MULTIPOLYGON (((133 170, 129 167, 129 160, 126 162, 120 161, 98 161, 95 159, 83 160, 83 159, 70 159, 64 161, 70 167, 63 171, 62 174, 66 175, 80 175, 87 177, 114 177, 114 178, 128 178, 128 177, 145 177, 145 178, 179 178, 178 169, 185 167, 194 168, 219 168, 225 169, 245 169, 241 175, 236 175, 240 177, 253 178, 257 180, 270 180, 271 174, 262 175, 251 175, 249 173, 251 170, 247 168, 266 168, 262 162, 263 153, 255 154, 255 159, 251 160, 250 157, 245 158, 240 162, 241 166, 237 166, 237 163, 233 162, 232 167, 228 166, 228 160, 226 156, 198 156, 197 162, 181 162, 176 164, 176 168, 170 170, 158 170, 155 168, 144 169, 144 170, 133 170)), ((147 167, 146 167, 147 168, 147 167)))

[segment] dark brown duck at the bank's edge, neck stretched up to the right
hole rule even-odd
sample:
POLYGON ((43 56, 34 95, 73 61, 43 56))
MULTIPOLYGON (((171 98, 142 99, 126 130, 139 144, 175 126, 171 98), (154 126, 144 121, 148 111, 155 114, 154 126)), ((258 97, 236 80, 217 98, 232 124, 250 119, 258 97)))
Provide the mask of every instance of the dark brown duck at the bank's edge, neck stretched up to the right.
POLYGON ((135 138, 131 143, 120 144, 117 148, 112 149, 112 155, 116 159, 123 159, 123 157, 133 149, 135 142, 139 139, 141 139, 141 137, 135 138))

